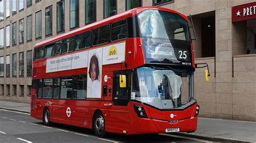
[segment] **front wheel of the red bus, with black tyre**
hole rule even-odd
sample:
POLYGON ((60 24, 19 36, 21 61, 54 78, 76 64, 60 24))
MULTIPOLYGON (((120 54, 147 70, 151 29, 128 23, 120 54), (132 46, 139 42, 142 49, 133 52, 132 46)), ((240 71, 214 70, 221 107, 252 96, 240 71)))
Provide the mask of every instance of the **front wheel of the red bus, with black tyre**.
POLYGON ((97 112, 93 118, 93 131, 100 138, 105 136, 105 119, 102 112, 97 112))

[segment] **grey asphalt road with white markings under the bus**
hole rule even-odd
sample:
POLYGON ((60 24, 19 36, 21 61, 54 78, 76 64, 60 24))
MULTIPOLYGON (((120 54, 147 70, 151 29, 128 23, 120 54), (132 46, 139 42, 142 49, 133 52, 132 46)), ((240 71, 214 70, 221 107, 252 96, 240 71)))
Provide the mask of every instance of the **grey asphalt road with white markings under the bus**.
POLYGON ((0 109, 0 142, 207 142, 171 134, 96 137, 90 129, 53 124, 44 126, 28 113, 0 109))

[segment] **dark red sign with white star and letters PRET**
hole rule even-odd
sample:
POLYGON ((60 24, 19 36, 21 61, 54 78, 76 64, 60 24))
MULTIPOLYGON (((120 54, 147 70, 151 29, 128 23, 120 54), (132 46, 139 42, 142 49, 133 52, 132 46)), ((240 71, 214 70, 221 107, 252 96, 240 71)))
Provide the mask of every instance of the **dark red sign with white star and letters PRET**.
POLYGON ((232 7, 232 22, 256 19, 256 2, 232 7))

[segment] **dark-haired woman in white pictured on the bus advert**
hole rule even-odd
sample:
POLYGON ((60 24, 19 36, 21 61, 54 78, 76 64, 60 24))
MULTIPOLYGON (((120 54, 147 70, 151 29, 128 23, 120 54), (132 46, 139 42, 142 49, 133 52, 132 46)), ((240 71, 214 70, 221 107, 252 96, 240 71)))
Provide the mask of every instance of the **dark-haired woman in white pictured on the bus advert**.
POLYGON ((100 82, 99 82, 99 62, 96 55, 93 55, 90 60, 89 76, 91 80, 88 83, 87 95, 89 97, 100 97, 100 82))

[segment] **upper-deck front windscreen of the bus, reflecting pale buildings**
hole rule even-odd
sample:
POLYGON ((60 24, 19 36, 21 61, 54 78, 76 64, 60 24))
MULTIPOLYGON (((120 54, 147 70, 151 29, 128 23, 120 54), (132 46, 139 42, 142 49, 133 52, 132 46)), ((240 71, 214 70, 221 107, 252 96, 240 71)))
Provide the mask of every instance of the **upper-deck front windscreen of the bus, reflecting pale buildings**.
POLYGON ((138 15, 143 37, 190 41, 188 23, 176 13, 145 10, 138 15))

